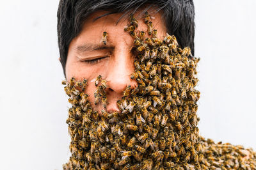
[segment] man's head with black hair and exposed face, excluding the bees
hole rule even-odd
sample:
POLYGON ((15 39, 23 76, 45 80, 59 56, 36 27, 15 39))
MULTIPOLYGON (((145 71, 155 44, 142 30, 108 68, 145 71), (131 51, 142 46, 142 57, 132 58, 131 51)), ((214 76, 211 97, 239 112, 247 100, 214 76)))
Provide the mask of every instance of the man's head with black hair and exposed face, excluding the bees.
MULTIPOLYGON (((194 47, 194 8, 192 1, 60 1, 58 42, 60 61, 67 80, 88 80, 87 93, 93 101, 94 80, 98 75, 108 81, 107 111, 118 111, 116 101, 126 86, 136 86, 130 79, 134 55, 133 39, 124 31, 129 13, 139 21, 138 30, 147 31, 144 12, 154 19, 159 37, 175 35, 181 47, 194 47), (102 33, 108 43, 102 43, 102 33)), ((92 102, 93 103, 93 102, 92 102)), ((95 107, 95 105, 93 105, 95 107)), ((96 108, 100 111, 102 108, 96 108)))

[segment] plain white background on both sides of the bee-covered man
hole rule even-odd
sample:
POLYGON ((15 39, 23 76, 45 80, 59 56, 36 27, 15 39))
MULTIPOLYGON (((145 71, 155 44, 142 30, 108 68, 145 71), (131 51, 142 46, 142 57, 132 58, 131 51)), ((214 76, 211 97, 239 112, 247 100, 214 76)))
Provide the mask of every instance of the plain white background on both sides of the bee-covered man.
MULTIPOLYGON (((200 132, 256 149, 256 1, 195 0, 200 132)), ((0 6, 0 169, 61 169, 69 157, 58 0, 0 6)))

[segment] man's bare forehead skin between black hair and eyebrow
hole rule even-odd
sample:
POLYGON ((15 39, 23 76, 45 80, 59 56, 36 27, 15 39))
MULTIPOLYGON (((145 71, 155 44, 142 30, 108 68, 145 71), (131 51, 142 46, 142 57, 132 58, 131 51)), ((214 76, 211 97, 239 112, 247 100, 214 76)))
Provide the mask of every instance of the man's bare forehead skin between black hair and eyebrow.
MULTIPOLYGON (((104 31, 108 32, 109 37, 114 35, 124 35, 124 27, 127 26, 129 22, 128 18, 130 13, 127 13, 125 15, 124 13, 113 13, 104 17, 100 17, 102 15, 105 15, 106 13, 109 12, 100 11, 89 15, 87 19, 84 20, 80 35, 95 36, 95 34, 98 33, 99 36, 102 36, 100 33, 103 33, 104 31)), ((152 22, 154 25, 153 29, 157 29, 158 35, 164 36, 166 34, 166 27, 164 24, 164 20, 162 19, 161 12, 156 13, 154 12, 154 10, 150 10, 148 11, 148 13, 150 13, 150 15, 152 16, 152 22)), ((147 31, 147 24, 144 23, 145 17, 143 10, 138 10, 138 12, 134 13, 134 16, 139 22, 137 30, 147 31)), ((127 36, 129 36, 129 34, 127 34, 127 36)))

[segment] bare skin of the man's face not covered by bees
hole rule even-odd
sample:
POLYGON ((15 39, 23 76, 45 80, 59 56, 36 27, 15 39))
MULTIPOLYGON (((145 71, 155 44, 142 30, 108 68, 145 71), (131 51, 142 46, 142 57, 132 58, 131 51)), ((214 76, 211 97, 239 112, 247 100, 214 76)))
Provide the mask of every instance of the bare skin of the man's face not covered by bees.
MULTIPOLYGON (((132 46, 134 39, 129 33, 124 31, 127 26, 127 17, 124 17, 116 25, 116 21, 123 15, 122 13, 111 14, 102 17, 96 21, 93 19, 103 15, 106 12, 93 13, 84 22, 81 33, 72 40, 68 47, 68 58, 66 64, 67 80, 75 77, 77 80, 88 80, 86 93, 96 111, 103 109, 101 104, 94 105, 93 92, 95 78, 102 75, 102 79, 107 82, 107 111, 119 111, 116 102, 123 97, 123 91, 131 84, 134 88, 137 84, 132 81, 131 74, 134 72, 134 54, 132 46), (106 45, 102 42, 102 33, 108 33, 108 42, 106 45)), ((159 38, 166 35, 166 27, 159 13, 151 14, 154 19, 154 29, 157 29, 159 38)), ((147 25, 144 24, 143 13, 137 12, 134 15, 139 22, 137 30, 147 31, 147 25), (140 15, 140 16, 138 16, 140 15)))

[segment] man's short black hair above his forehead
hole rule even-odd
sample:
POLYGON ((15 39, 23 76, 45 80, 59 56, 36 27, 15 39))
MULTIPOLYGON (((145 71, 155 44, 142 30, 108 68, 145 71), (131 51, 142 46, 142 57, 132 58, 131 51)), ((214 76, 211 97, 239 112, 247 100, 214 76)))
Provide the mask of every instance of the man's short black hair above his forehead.
POLYGON ((143 6, 153 6, 156 11, 161 10, 167 32, 176 36, 182 48, 190 47, 194 55, 195 10, 193 0, 60 0, 57 30, 64 75, 68 46, 72 39, 79 35, 86 17, 97 11, 106 11, 106 15, 134 13, 143 6))

